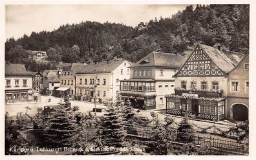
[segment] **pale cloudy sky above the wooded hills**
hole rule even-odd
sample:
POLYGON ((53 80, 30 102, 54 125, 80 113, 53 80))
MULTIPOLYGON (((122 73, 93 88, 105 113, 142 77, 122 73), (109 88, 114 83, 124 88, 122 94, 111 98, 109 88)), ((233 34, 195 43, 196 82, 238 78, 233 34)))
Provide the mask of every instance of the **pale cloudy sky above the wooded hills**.
POLYGON ((62 24, 81 21, 116 22, 137 26, 160 16, 182 11, 187 5, 160 4, 26 4, 5 6, 6 39, 30 36, 32 31, 52 31, 62 24))

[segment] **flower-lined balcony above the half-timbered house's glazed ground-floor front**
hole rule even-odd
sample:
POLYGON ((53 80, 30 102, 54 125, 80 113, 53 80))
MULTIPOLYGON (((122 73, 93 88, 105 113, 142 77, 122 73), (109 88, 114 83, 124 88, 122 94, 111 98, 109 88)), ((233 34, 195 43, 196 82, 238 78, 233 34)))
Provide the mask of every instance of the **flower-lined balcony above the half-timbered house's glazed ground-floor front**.
POLYGON ((206 98, 220 98, 222 97, 221 89, 183 89, 183 88, 175 88, 175 94, 178 96, 182 96, 182 94, 198 94, 198 97, 206 97, 206 98))

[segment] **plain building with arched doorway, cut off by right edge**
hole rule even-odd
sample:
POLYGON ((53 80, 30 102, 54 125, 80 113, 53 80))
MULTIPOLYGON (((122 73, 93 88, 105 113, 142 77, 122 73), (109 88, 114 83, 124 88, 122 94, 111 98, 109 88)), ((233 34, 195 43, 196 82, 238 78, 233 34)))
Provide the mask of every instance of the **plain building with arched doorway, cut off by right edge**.
POLYGON ((244 56, 228 76, 228 118, 248 120, 249 55, 244 56))

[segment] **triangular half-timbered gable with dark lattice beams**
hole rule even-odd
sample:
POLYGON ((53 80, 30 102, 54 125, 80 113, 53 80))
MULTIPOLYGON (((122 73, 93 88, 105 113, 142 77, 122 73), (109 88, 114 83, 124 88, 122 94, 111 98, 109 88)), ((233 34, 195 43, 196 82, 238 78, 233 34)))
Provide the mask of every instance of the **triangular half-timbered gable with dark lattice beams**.
POLYGON ((198 45, 175 76, 225 76, 209 55, 198 45))

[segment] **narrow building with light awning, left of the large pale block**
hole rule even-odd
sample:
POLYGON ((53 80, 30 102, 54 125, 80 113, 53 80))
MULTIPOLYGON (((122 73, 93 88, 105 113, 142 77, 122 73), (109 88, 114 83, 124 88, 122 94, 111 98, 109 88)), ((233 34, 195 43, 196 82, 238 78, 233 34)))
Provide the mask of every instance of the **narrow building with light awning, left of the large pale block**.
POLYGON ((56 90, 59 94, 76 94, 76 73, 85 67, 81 63, 73 63, 72 66, 65 67, 61 72, 60 87, 56 90))

